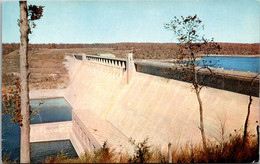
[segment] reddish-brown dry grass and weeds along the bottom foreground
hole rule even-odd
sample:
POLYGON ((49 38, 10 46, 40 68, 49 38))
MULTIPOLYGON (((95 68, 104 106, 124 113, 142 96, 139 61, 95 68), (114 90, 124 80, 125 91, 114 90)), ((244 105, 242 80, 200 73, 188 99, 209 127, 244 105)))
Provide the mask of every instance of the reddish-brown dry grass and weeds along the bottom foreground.
MULTIPOLYGON (((243 136, 234 134, 222 143, 209 142, 206 151, 200 145, 187 144, 181 148, 173 148, 173 163, 249 163, 259 159, 257 136, 250 135, 245 146, 243 136)), ((56 157, 47 158, 44 163, 167 163, 166 153, 152 149, 148 140, 133 142, 133 156, 114 152, 107 144, 93 154, 85 153, 80 158, 69 158, 60 153, 56 157)))

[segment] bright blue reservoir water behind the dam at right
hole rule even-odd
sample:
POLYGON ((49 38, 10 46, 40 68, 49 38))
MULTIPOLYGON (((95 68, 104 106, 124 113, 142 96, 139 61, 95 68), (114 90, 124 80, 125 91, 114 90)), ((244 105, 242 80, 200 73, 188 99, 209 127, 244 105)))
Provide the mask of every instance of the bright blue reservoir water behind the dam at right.
MULTIPOLYGON (((214 68, 259 73, 260 57, 207 56, 201 58, 206 61, 207 65, 214 68)), ((200 62, 199 65, 203 63, 200 62)))

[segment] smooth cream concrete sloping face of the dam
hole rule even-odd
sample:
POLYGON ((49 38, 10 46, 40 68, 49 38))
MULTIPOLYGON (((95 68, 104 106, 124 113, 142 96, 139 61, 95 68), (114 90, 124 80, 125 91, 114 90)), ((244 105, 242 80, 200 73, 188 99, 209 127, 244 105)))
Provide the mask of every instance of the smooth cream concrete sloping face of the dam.
MULTIPOLYGON (((84 121, 82 113, 86 111, 95 113, 127 138, 141 141, 149 137, 151 145, 164 149, 169 142, 200 142, 198 102, 190 83, 134 72, 127 84, 125 71, 120 72, 113 64, 100 64, 100 60, 95 62, 68 58, 67 63, 73 73, 64 97, 73 112, 82 117, 83 125, 100 124, 98 119, 84 121)), ((221 122, 225 122, 226 136, 234 129, 243 130, 247 95, 208 87, 202 89, 201 98, 208 139, 221 137, 221 122)), ((253 97, 249 128, 253 133, 256 121, 259 98, 253 97)), ((96 127, 105 132, 102 126, 96 127)), ((108 142, 114 140, 113 135, 108 138, 108 142)), ((130 149, 131 145, 127 147, 130 149)))

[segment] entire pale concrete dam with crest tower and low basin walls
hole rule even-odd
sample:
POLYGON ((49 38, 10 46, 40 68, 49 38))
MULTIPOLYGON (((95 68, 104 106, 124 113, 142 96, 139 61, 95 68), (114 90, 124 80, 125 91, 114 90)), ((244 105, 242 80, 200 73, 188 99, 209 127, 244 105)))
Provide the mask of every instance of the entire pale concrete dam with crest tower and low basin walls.
MULTIPOLYGON (((116 151, 133 152, 132 138, 166 150, 169 143, 201 143, 199 106, 191 84, 137 72, 126 59, 67 56, 70 82, 66 89, 32 90, 31 99, 64 97, 72 121, 31 125, 31 142, 69 139, 77 154, 93 152, 107 141, 116 151)), ((249 96, 222 89, 201 90, 207 139, 242 131, 249 96)), ((249 129, 256 133, 259 98, 253 97, 249 129)))

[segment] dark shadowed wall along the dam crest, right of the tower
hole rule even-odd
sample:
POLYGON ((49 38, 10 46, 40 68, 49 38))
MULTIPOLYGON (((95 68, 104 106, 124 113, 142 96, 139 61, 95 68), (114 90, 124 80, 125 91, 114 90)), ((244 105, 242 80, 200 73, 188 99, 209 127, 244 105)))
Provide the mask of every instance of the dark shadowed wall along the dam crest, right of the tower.
MULTIPOLYGON (((156 62, 136 61, 135 67, 137 72, 186 81, 184 78, 185 75, 182 74, 183 71, 178 69, 175 70, 172 64, 158 64, 156 62)), ((212 70, 215 70, 216 72, 217 69, 212 70)), ((203 84, 203 82, 207 81, 204 84, 206 86, 249 95, 249 86, 251 84, 251 79, 257 74, 244 73, 247 74, 247 76, 241 76, 240 74, 241 72, 238 71, 220 69, 218 69, 218 73, 216 72, 216 74, 214 74, 213 76, 205 76, 205 74, 201 72, 199 73, 199 83, 203 84)), ((259 78, 256 79, 253 84, 252 95, 259 97, 259 78)))

